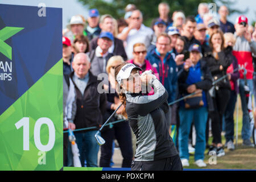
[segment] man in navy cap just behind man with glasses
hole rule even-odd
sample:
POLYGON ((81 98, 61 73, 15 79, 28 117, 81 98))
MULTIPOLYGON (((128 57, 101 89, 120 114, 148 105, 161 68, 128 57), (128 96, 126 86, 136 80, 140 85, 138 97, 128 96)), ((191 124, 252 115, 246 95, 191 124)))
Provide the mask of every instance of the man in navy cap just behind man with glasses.
POLYGON ((166 22, 164 22, 164 20, 162 20, 160 18, 157 19, 153 26, 153 30, 154 30, 155 34, 150 43, 150 47, 148 47, 148 49, 147 49, 147 52, 150 52, 150 51, 152 51, 152 49, 155 49, 156 38, 158 37, 158 35, 160 35, 164 31, 166 31, 166 22))

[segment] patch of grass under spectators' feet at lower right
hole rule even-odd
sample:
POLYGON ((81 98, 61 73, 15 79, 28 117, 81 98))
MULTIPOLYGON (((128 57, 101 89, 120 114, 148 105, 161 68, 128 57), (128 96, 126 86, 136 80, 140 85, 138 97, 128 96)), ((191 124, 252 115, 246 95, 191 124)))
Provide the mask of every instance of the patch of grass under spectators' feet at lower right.
MULTIPOLYGON (((228 149, 225 150, 225 156, 217 157, 216 163, 217 164, 209 164, 209 158, 211 156, 207 155, 208 149, 205 150, 205 159, 204 162, 207 164, 207 167, 202 169, 256 169, 256 148, 246 148, 242 146, 242 138, 241 138, 241 131, 242 131, 242 110, 241 110, 241 102, 240 98, 238 99, 239 103, 239 111, 238 111, 238 140, 237 146, 235 145, 236 149, 234 151, 229 151, 228 149)), ((234 143, 236 143, 236 110, 234 112, 234 121, 235 121, 235 136, 234 136, 234 143)), ((209 138, 209 144, 212 142, 212 137, 209 138)), ((222 136, 222 143, 225 144, 226 140, 225 137, 222 136)), ((193 155, 189 156, 189 169, 199 169, 199 167, 194 164, 195 159, 193 155)))

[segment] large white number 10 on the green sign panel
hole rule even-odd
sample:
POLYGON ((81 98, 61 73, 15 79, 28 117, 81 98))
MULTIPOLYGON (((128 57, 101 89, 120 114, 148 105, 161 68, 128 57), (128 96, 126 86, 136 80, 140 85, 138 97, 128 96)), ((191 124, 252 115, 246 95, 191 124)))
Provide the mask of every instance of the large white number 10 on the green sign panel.
MULTIPOLYGON (((23 127, 23 150, 30 150, 30 118, 24 117, 15 123, 16 129, 23 127)), ((38 150, 47 152, 50 151, 55 143, 55 127, 49 118, 39 118, 34 126, 34 142, 38 150), (43 124, 46 124, 49 129, 49 140, 46 145, 41 143, 40 129, 43 124)))

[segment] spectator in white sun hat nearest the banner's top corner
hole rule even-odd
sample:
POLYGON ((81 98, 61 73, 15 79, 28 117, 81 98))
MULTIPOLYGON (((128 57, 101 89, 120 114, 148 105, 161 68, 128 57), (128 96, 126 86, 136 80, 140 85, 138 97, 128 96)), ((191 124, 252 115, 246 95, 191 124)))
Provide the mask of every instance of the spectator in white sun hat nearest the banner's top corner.
POLYGON ((86 32, 84 31, 85 21, 81 15, 72 16, 67 28, 69 31, 65 32, 63 36, 66 36, 71 42, 73 42, 77 35, 86 36, 86 32))

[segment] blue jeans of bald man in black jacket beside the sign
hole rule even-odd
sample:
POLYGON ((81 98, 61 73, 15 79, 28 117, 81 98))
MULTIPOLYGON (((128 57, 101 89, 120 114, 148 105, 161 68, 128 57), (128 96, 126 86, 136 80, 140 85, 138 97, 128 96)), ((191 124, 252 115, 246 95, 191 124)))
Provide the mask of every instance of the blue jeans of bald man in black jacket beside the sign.
POLYGON ((80 161, 84 167, 86 160, 86 167, 98 167, 98 146, 94 135, 97 131, 86 131, 83 133, 75 133, 77 147, 79 148, 80 161))

